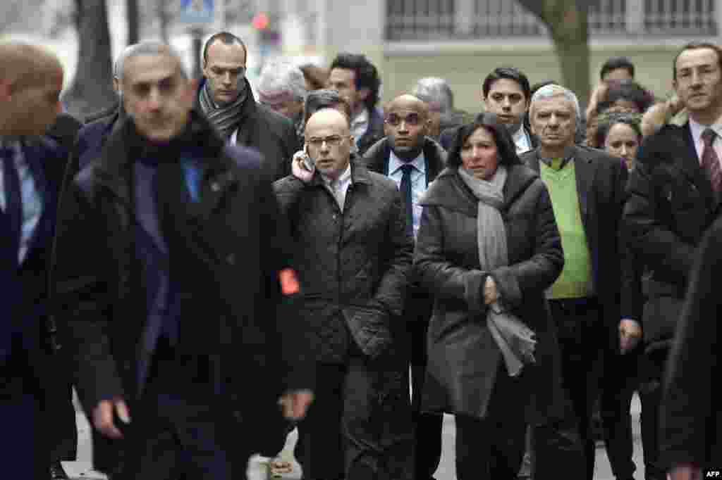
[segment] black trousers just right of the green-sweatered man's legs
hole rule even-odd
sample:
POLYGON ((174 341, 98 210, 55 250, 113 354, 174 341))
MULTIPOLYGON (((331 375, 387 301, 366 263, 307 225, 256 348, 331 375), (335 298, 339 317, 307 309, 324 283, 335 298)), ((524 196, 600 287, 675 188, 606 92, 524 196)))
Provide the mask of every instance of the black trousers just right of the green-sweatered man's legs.
POLYGON ((642 448, 645 480, 665 480, 664 465, 659 457, 658 417, 661 401, 665 352, 648 355, 643 347, 627 355, 610 356, 606 363, 604 391, 601 394, 601 418, 604 443, 612 473, 617 479, 632 479, 636 470, 632 457, 634 439, 630 406, 635 391, 642 404, 642 448))

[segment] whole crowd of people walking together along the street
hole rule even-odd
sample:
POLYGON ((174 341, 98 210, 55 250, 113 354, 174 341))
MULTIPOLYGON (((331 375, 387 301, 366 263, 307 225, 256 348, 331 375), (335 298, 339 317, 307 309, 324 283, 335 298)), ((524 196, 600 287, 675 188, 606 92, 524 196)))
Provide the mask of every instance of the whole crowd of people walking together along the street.
MULTIPOLYGON (((656 99, 609 58, 588 105, 523 66, 479 113, 429 76, 381 105, 365 55, 267 63, 218 32, 113 66, 116 105, 64 112, 47 50, 0 44, 0 450, 66 478, 72 388, 116 479, 631 480, 722 458, 722 50, 656 99), (410 387, 410 393, 409 393, 410 387), (250 460, 249 460, 250 459, 250 460)), ((668 477, 669 475, 669 477, 668 477)))

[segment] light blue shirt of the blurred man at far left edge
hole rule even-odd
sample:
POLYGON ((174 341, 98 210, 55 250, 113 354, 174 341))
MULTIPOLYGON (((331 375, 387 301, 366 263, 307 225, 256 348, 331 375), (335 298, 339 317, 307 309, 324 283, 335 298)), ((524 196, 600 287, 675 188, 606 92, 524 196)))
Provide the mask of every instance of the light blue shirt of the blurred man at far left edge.
MULTIPOLYGON (((18 251, 18 261, 22 263, 27 254, 27 248, 30 246, 32 234, 40 222, 40 215, 43 213, 43 200, 40 193, 35 188, 35 179, 32 178, 30 165, 27 164, 25 155, 22 152, 22 146, 19 141, 4 143, 4 146, 12 148, 15 152, 15 165, 17 173, 20 177, 20 190, 22 191, 22 235, 20 236, 20 248, 18 251)), ((5 210, 5 178, 2 172, 2 164, 0 163, 0 208, 5 210)))

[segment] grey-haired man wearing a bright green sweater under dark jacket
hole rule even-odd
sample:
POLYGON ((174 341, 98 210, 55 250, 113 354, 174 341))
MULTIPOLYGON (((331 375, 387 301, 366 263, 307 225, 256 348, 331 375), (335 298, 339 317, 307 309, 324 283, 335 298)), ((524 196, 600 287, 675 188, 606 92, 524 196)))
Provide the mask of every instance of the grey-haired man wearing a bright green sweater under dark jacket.
POLYGON ((542 87, 531 99, 529 114, 539 146, 521 159, 549 189, 564 249, 564 270, 547 298, 570 403, 564 418, 535 425, 534 478, 554 478, 564 468, 574 470, 565 474, 569 478, 592 480, 591 413, 601 367, 606 355, 618 350, 620 322, 638 326, 635 308, 627 311, 635 301, 624 301, 620 308, 618 232, 627 171, 619 159, 575 145, 580 109, 570 90, 542 87))

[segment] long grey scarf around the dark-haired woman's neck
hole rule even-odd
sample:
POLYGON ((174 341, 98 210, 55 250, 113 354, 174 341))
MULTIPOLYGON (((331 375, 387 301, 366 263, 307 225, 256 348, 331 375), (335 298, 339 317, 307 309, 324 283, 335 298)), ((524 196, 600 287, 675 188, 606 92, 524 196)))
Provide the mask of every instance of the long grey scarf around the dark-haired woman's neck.
MULTIPOLYGON (((479 200, 477 242, 482 271, 491 272, 509 265, 506 228, 500 212, 507 177, 505 166, 498 166, 494 177, 488 182, 475 178, 464 167, 459 167, 458 173, 479 200)), ((534 363, 535 334, 516 316, 506 311, 503 298, 490 305, 487 326, 502 353, 510 376, 519 375, 524 363, 534 363)))

